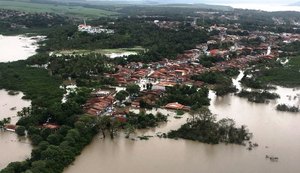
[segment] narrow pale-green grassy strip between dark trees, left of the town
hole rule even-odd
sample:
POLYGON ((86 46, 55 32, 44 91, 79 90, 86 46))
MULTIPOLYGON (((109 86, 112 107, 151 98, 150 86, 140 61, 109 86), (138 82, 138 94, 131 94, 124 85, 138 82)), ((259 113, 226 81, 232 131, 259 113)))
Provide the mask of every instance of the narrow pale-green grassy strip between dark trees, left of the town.
POLYGON ((111 54, 111 53, 125 53, 125 52, 145 52, 146 50, 142 47, 133 47, 133 48, 118 48, 118 49, 96 49, 96 50, 63 50, 54 52, 54 54, 63 54, 63 55, 81 55, 81 54, 111 54))

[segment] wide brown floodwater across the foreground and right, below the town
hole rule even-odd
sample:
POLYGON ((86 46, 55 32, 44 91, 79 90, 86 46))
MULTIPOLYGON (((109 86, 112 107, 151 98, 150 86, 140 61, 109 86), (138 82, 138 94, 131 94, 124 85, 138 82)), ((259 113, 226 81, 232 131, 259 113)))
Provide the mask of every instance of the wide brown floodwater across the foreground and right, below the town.
MULTIPOLYGON (((280 95, 292 89, 280 88, 280 95)), ((294 90, 293 94, 299 90, 294 90)), ((290 93, 288 93, 290 94, 290 93)), ((210 92, 210 109, 217 119, 232 118, 237 125, 247 125, 253 142, 259 147, 248 151, 240 145, 209 145, 188 140, 150 138, 148 141, 114 140, 98 135, 64 173, 298 173, 300 172, 300 114, 278 112, 276 104, 250 103, 235 95, 216 97, 210 92), (279 157, 271 162, 266 155, 279 157)), ((295 104, 299 101, 294 100, 295 104)), ((164 110, 159 110, 163 112, 164 110)), ((160 127, 138 131, 136 135, 155 135, 177 129, 186 121, 175 119, 160 127)))

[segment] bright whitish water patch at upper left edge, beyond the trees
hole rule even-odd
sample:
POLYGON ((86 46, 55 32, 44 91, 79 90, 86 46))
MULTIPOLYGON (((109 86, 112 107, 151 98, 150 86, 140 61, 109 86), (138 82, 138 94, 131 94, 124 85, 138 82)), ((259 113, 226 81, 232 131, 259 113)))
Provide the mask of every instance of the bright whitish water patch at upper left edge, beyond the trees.
POLYGON ((37 42, 43 38, 43 36, 0 35, 0 62, 23 60, 36 54, 37 42))

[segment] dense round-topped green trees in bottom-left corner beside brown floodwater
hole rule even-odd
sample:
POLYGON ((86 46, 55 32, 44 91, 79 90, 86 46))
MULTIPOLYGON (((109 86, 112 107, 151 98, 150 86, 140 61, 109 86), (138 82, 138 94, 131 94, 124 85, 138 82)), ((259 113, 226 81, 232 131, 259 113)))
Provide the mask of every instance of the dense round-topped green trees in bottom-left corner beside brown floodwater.
POLYGON ((91 141, 96 133, 93 124, 93 118, 82 116, 73 127, 62 126, 56 132, 30 127, 28 134, 35 145, 31 158, 23 162, 10 163, 1 173, 62 172, 91 141))

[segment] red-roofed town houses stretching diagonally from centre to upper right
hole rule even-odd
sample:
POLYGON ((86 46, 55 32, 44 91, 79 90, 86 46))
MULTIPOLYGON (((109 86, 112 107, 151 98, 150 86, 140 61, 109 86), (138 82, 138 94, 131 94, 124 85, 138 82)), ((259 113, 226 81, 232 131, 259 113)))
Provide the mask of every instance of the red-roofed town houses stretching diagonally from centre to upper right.
MULTIPOLYGON (((159 27, 176 28, 178 23, 154 21, 159 27)), ((280 43, 283 41, 292 42, 300 38, 298 34, 275 34, 272 32, 244 31, 238 26, 226 28, 225 26, 213 25, 208 32, 218 31, 219 35, 211 36, 207 43, 199 44, 195 49, 187 50, 178 55, 175 59, 163 59, 159 62, 144 64, 142 62, 131 62, 125 66, 118 66, 118 71, 112 74, 105 74, 106 77, 116 79, 118 87, 135 83, 141 87, 138 97, 130 100, 129 107, 140 108, 141 104, 153 106, 157 100, 164 95, 168 86, 176 84, 194 85, 201 87, 203 82, 194 81, 192 75, 210 71, 225 71, 230 68, 242 69, 250 62, 260 59, 272 59, 280 54, 280 43), (246 33, 245 35, 227 34, 227 32, 246 33), (259 40, 259 44, 248 42, 259 40), (223 46, 222 44, 229 45, 223 46), (221 45, 221 46, 220 46, 221 45), (222 48, 220 48, 222 47, 222 48), (224 61, 213 63, 212 67, 205 67, 199 63, 203 56, 211 58, 223 58, 224 61), (151 89, 146 89, 146 84, 151 83, 151 89)), ((103 92, 103 91, 102 91, 103 92)), ((94 94, 86 104, 86 112, 90 115, 102 115, 109 113, 115 115, 118 112, 114 109, 116 91, 106 94, 94 94)), ((180 103, 168 103, 162 108, 172 110, 189 111, 189 107, 180 103)), ((118 116, 122 115, 118 113, 118 116)), ((122 115, 124 117, 124 114, 122 115)))

